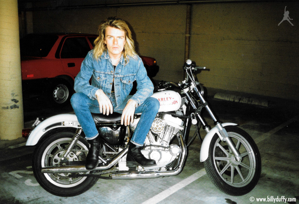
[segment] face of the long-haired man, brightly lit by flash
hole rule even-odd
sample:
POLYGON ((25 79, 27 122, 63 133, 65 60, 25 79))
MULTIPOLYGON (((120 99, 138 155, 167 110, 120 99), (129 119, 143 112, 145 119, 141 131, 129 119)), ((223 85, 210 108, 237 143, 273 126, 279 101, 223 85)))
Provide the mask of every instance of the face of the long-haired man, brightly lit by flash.
POLYGON ((125 32, 118 28, 108 26, 105 32, 105 41, 109 56, 117 59, 121 56, 126 43, 125 32))

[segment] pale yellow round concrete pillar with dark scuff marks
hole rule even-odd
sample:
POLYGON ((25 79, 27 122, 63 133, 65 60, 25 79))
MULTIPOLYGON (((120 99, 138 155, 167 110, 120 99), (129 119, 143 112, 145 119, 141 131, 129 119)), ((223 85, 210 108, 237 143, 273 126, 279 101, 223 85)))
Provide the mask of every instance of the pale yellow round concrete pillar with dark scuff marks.
POLYGON ((22 136, 24 127, 17 0, 0 0, 0 139, 22 136))

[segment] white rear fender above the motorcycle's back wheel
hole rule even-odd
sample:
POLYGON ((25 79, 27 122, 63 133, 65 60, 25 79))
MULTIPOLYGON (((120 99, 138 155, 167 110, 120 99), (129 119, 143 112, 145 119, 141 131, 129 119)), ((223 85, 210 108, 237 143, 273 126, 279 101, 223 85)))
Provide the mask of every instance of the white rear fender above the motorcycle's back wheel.
POLYGON ((59 127, 79 127, 77 116, 75 114, 59 114, 45 119, 39 123, 30 133, 26 142, 27 146, 36 145, 39 139, 48 131, 59 127))

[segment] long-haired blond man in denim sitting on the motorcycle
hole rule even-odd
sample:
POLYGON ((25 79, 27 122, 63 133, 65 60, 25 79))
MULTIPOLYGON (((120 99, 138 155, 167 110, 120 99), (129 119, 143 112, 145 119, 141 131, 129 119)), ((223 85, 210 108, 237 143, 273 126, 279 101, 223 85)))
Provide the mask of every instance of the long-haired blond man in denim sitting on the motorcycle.
POLYGON ((154 87, 135 52, 131 31, 125 21, 113 17, 102 21, 98 32, 94 49, 83 60, 75 78, 77 93, 71 98, 71 105, 91 145, 86 169, 97 167, 100 149, 100 137, 91 113, 108 116, 113 111, 122 113, 121 124, 124 125, 133 122, 134 113, 142 113, 129 143, 126 163, 128 167, 154 166, 155 160, 145 158, 141 149, 160 104, 150 97, 154 87), (137 91, 129 96, 135 80, 137 91))

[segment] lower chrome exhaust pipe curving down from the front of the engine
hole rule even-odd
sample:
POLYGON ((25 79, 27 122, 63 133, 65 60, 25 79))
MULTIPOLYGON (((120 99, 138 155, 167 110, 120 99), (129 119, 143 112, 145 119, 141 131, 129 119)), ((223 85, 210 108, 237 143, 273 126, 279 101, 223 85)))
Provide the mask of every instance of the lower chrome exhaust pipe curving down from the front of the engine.
POLYGON ((184 142, 182 135, 179 135, 179 143, 182 147, 181 157, 179 160, 179 166, 176 170, 167 171, 167 172, 160 172, 160 171, 134 171, 134 172, 124 172, 124 173, 116 173, 111 174, 112 179, 141 179, 141 178, 158 178, 162 176, 175 176, 181 173, 184 167, 184 161, 187 155, 187 148, 184 142))

